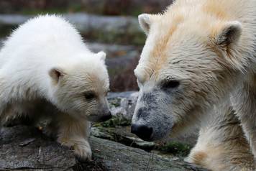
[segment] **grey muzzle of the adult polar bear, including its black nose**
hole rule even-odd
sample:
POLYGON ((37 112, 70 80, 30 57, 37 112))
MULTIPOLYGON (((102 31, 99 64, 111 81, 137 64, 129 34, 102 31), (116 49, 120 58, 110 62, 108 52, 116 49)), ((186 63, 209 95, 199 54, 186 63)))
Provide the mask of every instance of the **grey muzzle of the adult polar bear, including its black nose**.
POLYGON ((140 91, 132 118, 132 133, 146 141, 155 141, 165 137, 173 127, 173 116, 165 112, 171 112, 168 104, 172 98, 161 88, 144 89, 140 91))

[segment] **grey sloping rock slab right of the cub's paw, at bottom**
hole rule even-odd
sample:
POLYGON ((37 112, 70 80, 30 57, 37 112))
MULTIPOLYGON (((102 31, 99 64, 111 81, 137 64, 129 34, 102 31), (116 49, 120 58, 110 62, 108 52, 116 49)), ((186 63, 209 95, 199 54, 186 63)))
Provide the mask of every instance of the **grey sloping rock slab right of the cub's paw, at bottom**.
POLYGON ((101 159, 109 170, 202 170, 178 157, 161 157, 142 149, 127 147, 105 139, 91 137, 93 156, 101 159))

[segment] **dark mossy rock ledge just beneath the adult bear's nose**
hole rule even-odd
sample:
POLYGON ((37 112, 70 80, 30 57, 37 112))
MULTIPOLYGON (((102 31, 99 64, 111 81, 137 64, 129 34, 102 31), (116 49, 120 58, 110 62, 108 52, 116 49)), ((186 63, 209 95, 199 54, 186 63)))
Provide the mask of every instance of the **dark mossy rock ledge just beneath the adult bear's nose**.
MULTIPOLYGON (((173 141, 166 144, 157 144, 153 142, 144 142, 134 134, 130 133, 131 121, 120 119, 114 116, 113 119, 100 124, 94 124, 99 130, 99 135, 96 137, 109 139, 111 141, 120 142, 131 147, 145 149, 147 152, 155 152, 160 155, 173 155, 178 157, 186 157, 191 151, 192 146, 189 144, 173 141)), ((95 136, 95 135, 94 135, 95 136)))

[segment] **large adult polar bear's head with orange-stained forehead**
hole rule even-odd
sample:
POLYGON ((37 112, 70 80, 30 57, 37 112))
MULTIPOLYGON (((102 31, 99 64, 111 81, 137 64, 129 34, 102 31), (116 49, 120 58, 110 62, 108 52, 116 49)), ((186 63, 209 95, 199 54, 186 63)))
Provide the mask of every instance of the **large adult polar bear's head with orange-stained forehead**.
POLYGON ((131 130, 155 141, 195 124, 228 94, 242 68, 242 24, 175 7, 139 22, 147 40, 134 70, 140 96, 131 130))

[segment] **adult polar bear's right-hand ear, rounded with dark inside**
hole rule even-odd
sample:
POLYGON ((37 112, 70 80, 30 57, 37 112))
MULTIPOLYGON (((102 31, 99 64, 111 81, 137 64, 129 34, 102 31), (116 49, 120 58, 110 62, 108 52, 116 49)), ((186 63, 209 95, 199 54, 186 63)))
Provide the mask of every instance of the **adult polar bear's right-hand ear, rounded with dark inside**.
POLYGON ((215 43, 221 47, 227 47, 232 43, 238 42, 241 34, 242 24, 240 22, 227 22, 221 29, 217 30, 215 43))

